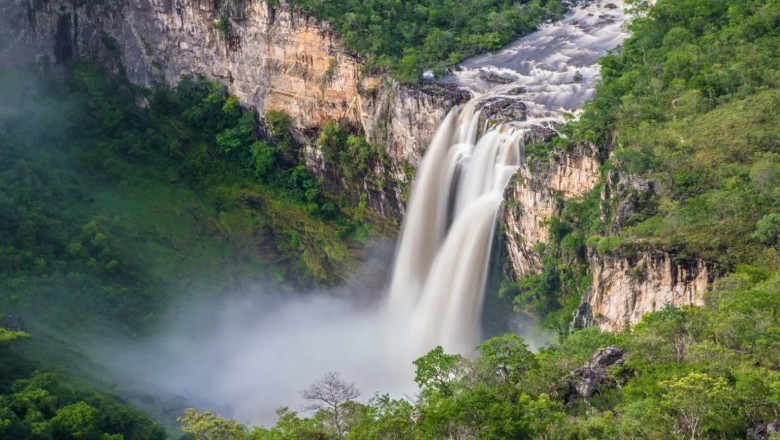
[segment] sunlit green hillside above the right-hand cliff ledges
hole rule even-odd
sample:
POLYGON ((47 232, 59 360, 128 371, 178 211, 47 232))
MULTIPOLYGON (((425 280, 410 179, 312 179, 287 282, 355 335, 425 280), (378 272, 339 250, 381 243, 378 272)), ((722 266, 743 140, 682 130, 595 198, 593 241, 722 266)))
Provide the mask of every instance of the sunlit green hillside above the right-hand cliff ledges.
POLYGON ((764 258, 780 210, 780 7, 631 6, 632 35, 601 61, 602 85, 574 124, 575 138, 615 146, 608 166, 655 185, 610 233, 621 247, 662 248, 726 271, 764 258))

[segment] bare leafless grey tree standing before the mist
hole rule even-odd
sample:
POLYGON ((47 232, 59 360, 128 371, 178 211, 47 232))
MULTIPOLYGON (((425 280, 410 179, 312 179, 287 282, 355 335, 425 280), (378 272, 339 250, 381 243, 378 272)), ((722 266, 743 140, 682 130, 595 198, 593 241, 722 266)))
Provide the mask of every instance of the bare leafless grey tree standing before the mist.
POLYGON ((305 409, 326 414, 339 438, 347 432, 348 415, 351 413, 348 403, 359 395, 354 384, 343 381, 339 373, 333 371, 301 392, 301 396, 309 402, 305 409))

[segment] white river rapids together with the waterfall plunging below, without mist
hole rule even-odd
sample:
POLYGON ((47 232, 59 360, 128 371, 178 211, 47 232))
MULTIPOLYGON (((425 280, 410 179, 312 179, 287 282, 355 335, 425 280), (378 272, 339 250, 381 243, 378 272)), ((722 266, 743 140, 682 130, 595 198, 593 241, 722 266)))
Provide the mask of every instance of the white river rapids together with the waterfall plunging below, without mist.
POLYGON ((560 121, 592 96, 595 61, 627 35, 622 7, 582 5, 497 54, 467 61, 447 79, 478 96, 450 112, 420 163, 389 288, 389 307, 410 311, 418 352, 436 345, 473 349, 495 218, 521 165, 524 133, 533 124, 560 121), (491 75, 511 84, 497 85, 491 75), (522 100, 526 118, 477 139, 478 103, 493 98, 522 100))

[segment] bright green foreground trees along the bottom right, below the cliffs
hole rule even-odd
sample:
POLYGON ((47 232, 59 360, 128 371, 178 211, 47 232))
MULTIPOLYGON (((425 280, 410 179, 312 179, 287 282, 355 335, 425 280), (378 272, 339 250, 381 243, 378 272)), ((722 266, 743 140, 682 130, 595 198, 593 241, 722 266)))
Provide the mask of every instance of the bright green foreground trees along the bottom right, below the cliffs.
POLYGON ((581 330, 536 354, 515 335, 482 343, 475 359, 439 347, 415 362, 414 401, 342 399, 338 430, 324 411, 283 408, 276 426, 224 438, 745 438, 780 415, 779 289, 777 274, 745 268, 719 281, 706 307, 668 307, 631 331, 581 330), (576 370, 610 345, 623 360, 578 393, 576 370))

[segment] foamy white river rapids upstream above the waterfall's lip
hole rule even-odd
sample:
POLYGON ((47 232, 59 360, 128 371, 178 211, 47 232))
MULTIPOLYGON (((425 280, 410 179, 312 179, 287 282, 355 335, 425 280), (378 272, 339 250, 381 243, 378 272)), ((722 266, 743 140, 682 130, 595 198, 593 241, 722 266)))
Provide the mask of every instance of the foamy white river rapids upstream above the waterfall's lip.
POLYGON ((597 61, 628 37, 622 0, 599 0, 574 6, 566 16, 499 52, 464 61, 445 82, 458 84, 483 95, 502 95, 522 86, 516 98, 529 109, 528 124, 561 120, 564 113, 577 113, 593 98, 598 80, 597 61), (513 80, 496 84, 488 74, 513 80), (579 73, 581 79, 575 80, 579 73))

